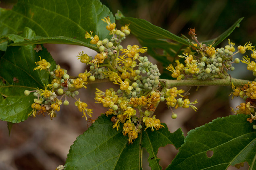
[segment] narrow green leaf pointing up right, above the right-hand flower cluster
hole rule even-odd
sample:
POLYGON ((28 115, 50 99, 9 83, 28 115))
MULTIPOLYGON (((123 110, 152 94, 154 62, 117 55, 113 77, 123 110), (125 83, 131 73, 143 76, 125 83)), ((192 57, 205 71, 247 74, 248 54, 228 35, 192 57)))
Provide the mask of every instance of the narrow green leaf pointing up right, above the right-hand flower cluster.
POLYGON ((239 23, 241 22, 241 20, 243 20, 244 17, 239 18, 229 29, 227 29, 227 31, 225 31, 224 33, 222 33, 219 37, 217 37, 216 39, 213 40, 208 40, 206 42, 206 44, 212 44, 213 47, 216 47, 219 43, 221 43, 224 39, 226 39, 233 31, 236 27, 239 27, 239 23))

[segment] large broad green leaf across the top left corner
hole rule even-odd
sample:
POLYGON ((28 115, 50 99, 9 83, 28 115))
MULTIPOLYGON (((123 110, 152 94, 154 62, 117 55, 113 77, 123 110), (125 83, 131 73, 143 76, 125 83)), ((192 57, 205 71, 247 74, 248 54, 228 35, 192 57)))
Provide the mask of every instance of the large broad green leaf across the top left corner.
POLYGON ((100 39, 110 38, 101 20, 106 16, 114 22, 113 14, 99 0, 19 0, 12 10, 0 8, 0 35, 19 35, 29 27, 41 37, 20 45, 65 43, 95 49, 84 36, 93 31, 100 39))

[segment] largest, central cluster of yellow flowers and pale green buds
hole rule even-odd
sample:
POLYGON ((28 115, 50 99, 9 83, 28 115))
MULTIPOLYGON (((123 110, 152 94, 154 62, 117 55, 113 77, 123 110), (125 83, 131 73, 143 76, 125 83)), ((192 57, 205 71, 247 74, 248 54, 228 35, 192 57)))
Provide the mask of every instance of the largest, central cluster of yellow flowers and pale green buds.
MULTIPOLYGON (((107 23, 106 29, 112 35, 111 39, 98 39, 98 36, 86 33, 85 37, 91 39, 92 44, 96 44, 99 53, 94 57, 79 53, 81 62, 89 65, 89 80, 108 79, 114 84, 119 85, 119 90, 113 88, 105 91, 96 88, 96 103, 102 103, 103 107, 108 108, 107 116, 111 116, 113 128, 117 130, 123 125, 123 135, 128 135, 129 143, 138 137, 142 126, 145 130, 150 128, 158 130, 164 127, 159 119, 156 119, 154 111, 160 101, 167 100, 168 107, 188 108, 191 107, 196 111, 196 107, 189 99, 182 99, 181 93, 183 90, 165 89, 167 92, 162 92, 160 89, 159 69, 156 65, 148 60, 148 57, 141 56, 147 51, 146 47, 140 48, 138 45, 128 45, 123 48, 121 42, 130 34, 129 25, 125 25, 121 30, 116 28, 115 23, 111 23, 110 19, 104 18, 107 23), (177 99, 177 94, 181 98, 177 99), (173 101, 175 99, 175 101, 173 101), (172 104, 169 104, 172 102, 172 104)), ((193 57, 192 59, 193 60, 193 57)), ((187 64, 191 63, 187 59, 187 64)), ((179 65, 176 66, 180 75, 183 64, 176 61, 179 65)), ((194 67, 194 66, 193 66, 194 67)), ((174 69, 174 68, 173 68, 174 69)), ((187 68, 186 68, 187 69, 187 68)), ((197 71, 196 71, 197 72, 197 71)), ((177 76, 179 76, 177 75, 177 76)), ((173 113, 173 118, 177 115, 173 113)))

